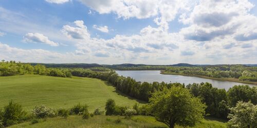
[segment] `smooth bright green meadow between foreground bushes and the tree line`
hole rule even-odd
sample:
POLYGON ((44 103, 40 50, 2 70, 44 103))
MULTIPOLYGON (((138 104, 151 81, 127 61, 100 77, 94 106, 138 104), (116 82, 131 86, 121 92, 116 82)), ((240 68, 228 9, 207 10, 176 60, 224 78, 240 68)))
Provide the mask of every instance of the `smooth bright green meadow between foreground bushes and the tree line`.
POLYGON ((137 102, 117 93, 114 87, 99 79, 40 75, 0 77, 0 97, 0 108, 13 100, 21 103, 26 110, 41 104, 71 108, 80 102, 86 103, 89 111, 93 111, 96 108, 104 109, 108 98, 113 98, 121 106, 132 106, 137 102))

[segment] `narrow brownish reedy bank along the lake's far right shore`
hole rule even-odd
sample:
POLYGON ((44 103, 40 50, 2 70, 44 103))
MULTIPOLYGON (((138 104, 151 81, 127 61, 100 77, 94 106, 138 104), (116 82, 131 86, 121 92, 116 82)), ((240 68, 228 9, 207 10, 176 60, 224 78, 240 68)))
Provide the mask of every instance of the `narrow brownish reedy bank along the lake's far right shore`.
POLYGON ((180 74, 180 73, 171 73, 171 72, 165 72, 163 70, 160 71, 160 74, 163 74, 163 75, 195 76, 195 77, 200 77, 200 78, 205 78, 205 79, 215 79, 215 80, 222 80, 222 81, 249 83, 249 84, 255 84, 257 86, 257 82, 240 81, 239 79, 236 79, 236 78, 213 78, 213 77, 208 77, 208 76, 203 76, 203 75, 188 75, 188 74, 180 74))

